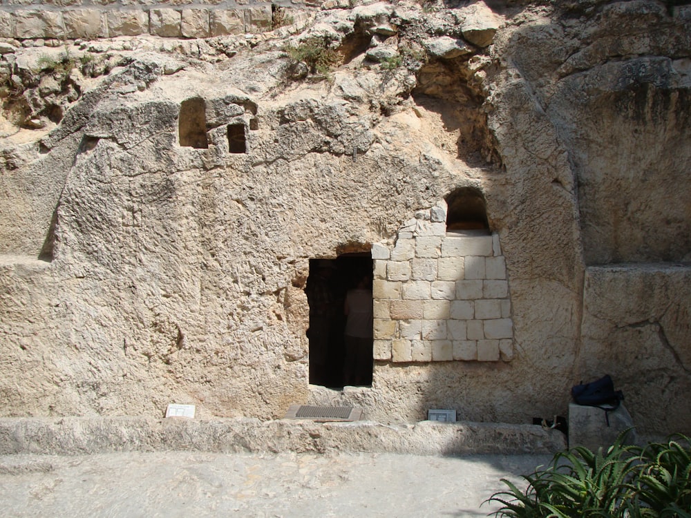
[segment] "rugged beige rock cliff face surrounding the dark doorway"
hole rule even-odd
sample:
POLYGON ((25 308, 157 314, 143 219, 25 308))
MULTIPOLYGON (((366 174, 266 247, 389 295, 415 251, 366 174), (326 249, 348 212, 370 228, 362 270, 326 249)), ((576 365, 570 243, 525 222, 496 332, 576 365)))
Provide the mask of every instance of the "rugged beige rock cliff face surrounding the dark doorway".
POLYGON ((642 432, 691 432, 691 6, 327 3, 232 36, 252 9, 55 48, 36 24, 75 10, 10 17, 0 414, 529 423, 611 374, 642 432), (448 256, 454 224, 491 248, 448 256), (309 384, 338 257, 386 289, 371 387, 309 384))

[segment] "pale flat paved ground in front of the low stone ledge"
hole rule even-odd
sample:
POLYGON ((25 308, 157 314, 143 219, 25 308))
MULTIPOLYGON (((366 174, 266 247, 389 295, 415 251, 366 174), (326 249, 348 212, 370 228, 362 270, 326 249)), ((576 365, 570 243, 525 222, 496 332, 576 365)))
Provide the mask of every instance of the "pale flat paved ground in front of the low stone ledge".
POLYGON ((549 456, 127 452, 0 457, 6 517, 477 517, 549 456))

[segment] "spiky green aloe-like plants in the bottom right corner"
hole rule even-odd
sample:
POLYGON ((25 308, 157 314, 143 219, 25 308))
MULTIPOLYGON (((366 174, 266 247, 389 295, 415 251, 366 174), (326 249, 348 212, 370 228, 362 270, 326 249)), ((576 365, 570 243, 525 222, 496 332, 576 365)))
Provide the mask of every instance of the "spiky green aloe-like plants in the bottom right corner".
MULTIPOLYGON (((524 475, 525 491, 509 490, 488 501, 502 504, 491 514, 514 518, 676 517, 691 518, 691 441, 623 445, 625 433, 607 450, 571 448, 551 464, 524 475)), ((676 439, 676 440, 674 440, 676 439)))

